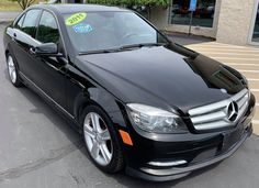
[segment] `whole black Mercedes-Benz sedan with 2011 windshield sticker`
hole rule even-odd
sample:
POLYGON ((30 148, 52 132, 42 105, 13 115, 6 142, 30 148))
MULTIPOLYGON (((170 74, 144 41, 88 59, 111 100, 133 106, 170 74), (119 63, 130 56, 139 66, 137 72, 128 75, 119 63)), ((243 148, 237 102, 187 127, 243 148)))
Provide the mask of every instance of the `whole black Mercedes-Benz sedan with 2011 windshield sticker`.
POLYGON ((181 178, 227 158, 252 133, 246 78, 130 10, 34 5, 7 27, 4 49, 11 82, 66 117, 105 173, 181 178))

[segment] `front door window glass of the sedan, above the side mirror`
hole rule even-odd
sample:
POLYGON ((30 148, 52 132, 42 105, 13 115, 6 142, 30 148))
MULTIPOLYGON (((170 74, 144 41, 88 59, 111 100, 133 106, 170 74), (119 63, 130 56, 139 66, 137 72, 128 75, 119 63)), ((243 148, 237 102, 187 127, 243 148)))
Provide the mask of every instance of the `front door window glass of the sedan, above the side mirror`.
POLYGON ((37 29, 37 41, 42 43, 57 43, 58 40, 57 22, 52 13, 44 11, 37 29))

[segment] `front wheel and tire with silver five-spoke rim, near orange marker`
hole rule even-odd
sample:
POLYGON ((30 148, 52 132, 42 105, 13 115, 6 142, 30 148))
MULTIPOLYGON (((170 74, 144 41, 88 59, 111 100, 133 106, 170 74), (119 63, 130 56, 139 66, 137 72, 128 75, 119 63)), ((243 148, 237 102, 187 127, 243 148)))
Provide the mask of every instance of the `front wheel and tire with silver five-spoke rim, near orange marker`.
POLYGON ((82 111, 80 123, 87 152, 94 165, 104 173, 120 172, 124 167, 123 152, 113 123, 106 113, 91 104, 82 111))

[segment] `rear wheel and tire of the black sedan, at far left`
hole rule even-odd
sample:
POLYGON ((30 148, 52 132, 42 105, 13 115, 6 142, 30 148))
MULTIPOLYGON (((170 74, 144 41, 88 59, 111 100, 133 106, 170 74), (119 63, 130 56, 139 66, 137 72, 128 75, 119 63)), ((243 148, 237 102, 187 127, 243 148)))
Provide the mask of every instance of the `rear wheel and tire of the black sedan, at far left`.
POLYGON ((18 66, 11 54, 7 54, 7 66, 8 75, 12 85, 15 87, 21 87, 22 81, 18 71, 18 66))

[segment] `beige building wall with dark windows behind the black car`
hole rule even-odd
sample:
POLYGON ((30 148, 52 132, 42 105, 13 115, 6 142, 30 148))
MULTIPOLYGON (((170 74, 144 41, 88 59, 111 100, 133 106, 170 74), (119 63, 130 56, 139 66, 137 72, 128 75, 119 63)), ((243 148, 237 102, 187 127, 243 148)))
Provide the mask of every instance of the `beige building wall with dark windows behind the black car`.
MULTIPOLYGON (((171 0, 168 9, 151 11, 159 29, 189 33, 191 0, 171 0)), ((191 33, 237 45, 259 45, 259 0, 198 0, 191 33)))

